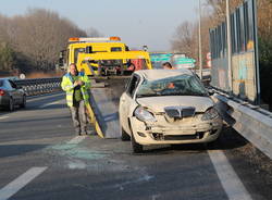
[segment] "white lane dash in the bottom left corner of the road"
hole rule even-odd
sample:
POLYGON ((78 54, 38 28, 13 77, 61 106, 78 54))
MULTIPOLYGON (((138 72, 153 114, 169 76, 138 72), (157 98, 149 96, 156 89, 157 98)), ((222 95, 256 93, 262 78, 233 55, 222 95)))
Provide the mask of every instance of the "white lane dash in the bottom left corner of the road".
POLYGON ((16 179, 8 184, 0 190, 0 199, 8 200, 10 197, 15 195, 20 189, 30 183, 35 177, 45 172, 47 167, 32 167, 24 174, 18 176, 16 179))

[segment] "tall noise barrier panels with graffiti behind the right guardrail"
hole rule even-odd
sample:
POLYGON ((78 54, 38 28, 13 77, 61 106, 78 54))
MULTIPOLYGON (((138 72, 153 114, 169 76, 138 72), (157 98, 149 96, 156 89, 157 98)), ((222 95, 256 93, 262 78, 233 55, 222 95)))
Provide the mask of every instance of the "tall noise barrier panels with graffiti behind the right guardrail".
POLYGON ((260 91, 255 0, 244 1, 231 14, 231 41, 232 59, 228 61, 226 23, 210 29, 211 86, 258 103, 260 91), (232 77, 228 77, 228 71, 232 77))

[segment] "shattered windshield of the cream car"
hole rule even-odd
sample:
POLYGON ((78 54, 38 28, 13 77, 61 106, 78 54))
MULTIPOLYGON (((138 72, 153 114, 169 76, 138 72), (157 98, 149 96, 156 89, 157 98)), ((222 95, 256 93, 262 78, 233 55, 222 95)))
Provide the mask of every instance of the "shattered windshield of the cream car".
POLYGON ((183 74, 156 80, 145 79, 136 97, 151 96, 208 96, 208 92, 195 76, 183 74))

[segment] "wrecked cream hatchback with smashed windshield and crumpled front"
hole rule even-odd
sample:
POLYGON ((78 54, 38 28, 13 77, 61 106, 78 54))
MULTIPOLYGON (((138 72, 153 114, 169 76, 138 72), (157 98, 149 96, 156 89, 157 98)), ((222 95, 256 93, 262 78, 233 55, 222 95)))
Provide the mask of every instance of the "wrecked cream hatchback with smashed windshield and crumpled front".
POLYGON ((120 98, 122 140, 134 152, 147 145, 214 141, 222 118, 208 90, 189 70, 147 70, 132 75, 120 98))

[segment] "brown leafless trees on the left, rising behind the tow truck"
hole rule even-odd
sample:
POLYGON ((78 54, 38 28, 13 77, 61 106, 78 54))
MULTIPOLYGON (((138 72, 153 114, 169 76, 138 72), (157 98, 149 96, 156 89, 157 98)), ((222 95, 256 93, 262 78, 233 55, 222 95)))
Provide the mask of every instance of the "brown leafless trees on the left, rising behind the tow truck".
POLYGON ((0 43, 8 43, 33 70, 54 68, 59 52, 66 47, 69 38, 81 36, 86 33, 52 11, 29 9, 22 16, 0 15, 0 43))

